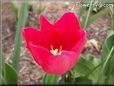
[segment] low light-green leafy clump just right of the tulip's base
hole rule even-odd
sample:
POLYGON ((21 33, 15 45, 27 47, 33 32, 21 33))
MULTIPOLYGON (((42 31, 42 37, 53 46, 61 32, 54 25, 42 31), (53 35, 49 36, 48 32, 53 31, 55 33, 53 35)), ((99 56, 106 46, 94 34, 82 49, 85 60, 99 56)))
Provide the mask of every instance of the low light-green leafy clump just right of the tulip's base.
POLYGON ((76 66, 72 69, 72 76, 75 79, 86 77, 90 82, 96 83, 101 65, 100 59, 95 58, 93 55, 88 57, 81 56, 76 66))

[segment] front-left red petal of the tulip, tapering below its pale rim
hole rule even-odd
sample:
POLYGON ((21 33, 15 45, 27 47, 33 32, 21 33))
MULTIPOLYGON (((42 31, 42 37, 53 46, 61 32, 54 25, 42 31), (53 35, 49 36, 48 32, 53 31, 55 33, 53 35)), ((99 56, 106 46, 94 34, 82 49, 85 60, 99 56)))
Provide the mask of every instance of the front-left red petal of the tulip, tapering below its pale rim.
POLYGON ((42 46, 33 45, 32 43, 29 43, 28 49, 32 53, 32 56, 36 63, 39 65, 43 65, 45 61, 47 61, 47 58, 52 56, 52 53, 50 51, 42 46))

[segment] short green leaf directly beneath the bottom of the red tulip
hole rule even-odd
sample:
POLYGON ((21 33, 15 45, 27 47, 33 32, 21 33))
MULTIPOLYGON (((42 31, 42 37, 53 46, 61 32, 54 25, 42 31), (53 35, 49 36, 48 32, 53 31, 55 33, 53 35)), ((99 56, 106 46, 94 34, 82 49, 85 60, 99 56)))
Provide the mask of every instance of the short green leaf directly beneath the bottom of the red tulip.
POLYGON ((60 76, 58 75, 46 74, 43 79, 43 84, 57 84, 59 80, 60 76))

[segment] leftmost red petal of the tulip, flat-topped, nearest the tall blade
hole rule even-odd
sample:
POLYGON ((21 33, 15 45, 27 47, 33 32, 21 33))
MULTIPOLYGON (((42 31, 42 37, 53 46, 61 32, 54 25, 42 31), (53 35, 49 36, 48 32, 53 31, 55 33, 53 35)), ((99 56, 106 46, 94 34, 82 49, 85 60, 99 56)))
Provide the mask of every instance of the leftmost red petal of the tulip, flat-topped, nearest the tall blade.
POLYGON ((27 46, 28 43, 31 42, 35 45, 38 45, 41 40, 40 31, 38 31, 34 27, 27 27, 22 29, 22 35, 26 40, 27 46))

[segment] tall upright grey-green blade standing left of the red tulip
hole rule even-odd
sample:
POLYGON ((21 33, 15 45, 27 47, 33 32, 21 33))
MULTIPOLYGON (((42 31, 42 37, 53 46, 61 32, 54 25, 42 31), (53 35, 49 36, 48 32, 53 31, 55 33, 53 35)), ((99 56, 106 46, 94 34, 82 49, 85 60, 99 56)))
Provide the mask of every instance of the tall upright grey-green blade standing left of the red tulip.
POLYGON ((21 51, 21 43, 22 43, 22 37, 21 37, 21 29, 25 26, 27 16, 28 16, 28 10, 27 10, 27 1, 22 1, 22 6, 20 9, 19 19, 18 19, 18 26, 16 30, 16 37, 15 37, 15 46, 14 46, 14 53, 13 53, 13 67, 18 72, 18 63, 19 63, 19 57, 20 57, 20 51, 21 51))

